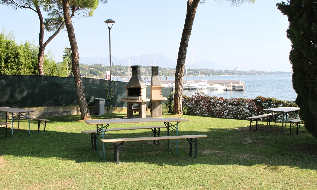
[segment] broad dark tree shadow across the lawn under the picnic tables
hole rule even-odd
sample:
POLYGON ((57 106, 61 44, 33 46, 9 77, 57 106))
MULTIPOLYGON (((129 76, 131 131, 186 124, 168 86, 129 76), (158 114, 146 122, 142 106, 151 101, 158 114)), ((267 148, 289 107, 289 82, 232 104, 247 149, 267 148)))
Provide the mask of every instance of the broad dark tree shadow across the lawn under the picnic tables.
MULTIPOLYGON (((109 117, 113 118, 116 115, 109 117)), ((119 115, 117 116, 119 117, 119 115)), ((52 117, 50 118, 52 119, 52 117)), ((58 122, 68 121, 66 116, 58 118, 58 122)), ((107 117, 97 116, 97 118, 107 117)), ((287 129, 289 127, 285 127, 285 131, 287 129)), ((0 155, 74 160, 75 162, 114 162, 112 143, 105 143, 106 159, 103 159, 91 149, 90 135, 82 134, 80 131, 74 133, 48 130, 46 133, 43 131, 37 133, 36 130, 32 130, 29 134, 28 130, 14 130, 15 136, 9 135, 8 139, 4 139, 3 130, 0 131, 0 155)), ((269 130, 278 132, 281 128, 270 126, 269 130)), ((139 130, 126 133, 121 131, 108 132, 105 138, 152 136, 151 130, 137 131, 139 130)), ((196 159, 189 156, 189 143, 186 139, 178 140, 178 155, 171 152, 175 151, 176 140, 170 140, 170 149, 167 149, 167 140, 161 140, 159 145, 152 144, 152 141, 126 142, 120 149, 120 162, 147 162, 178 166, 265 164, 268 168, 289 166, 317 169, 317 143, 303 127, 298 136, 289 135, 289 133, 279 135, 265 131, 266 125, 261 124, 258 126, 258 131, 250 131, 249 127, 209 128, 208 131, 204 132, 179 131, 179 135, 204 134, 208 136, 198 139, 196 159)), ((166 129, 161 129, 161 136, 166 135, 166 129)), ((101 149, 102 143, 99 144, 99 150, 101 149)))

